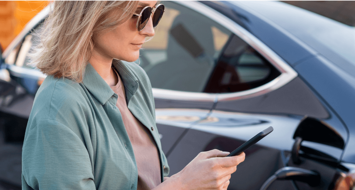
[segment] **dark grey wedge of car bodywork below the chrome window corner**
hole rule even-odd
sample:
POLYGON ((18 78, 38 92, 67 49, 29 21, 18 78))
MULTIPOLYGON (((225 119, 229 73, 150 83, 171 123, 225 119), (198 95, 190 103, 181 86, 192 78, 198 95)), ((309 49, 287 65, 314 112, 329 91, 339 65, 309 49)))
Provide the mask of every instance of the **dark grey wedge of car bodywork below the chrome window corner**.
POLYGON ((329 117, 328 111, 299 77, 275 91, 258 97, 219 101, 215 109, 246 113, 309 115, 316 118, 329 117))

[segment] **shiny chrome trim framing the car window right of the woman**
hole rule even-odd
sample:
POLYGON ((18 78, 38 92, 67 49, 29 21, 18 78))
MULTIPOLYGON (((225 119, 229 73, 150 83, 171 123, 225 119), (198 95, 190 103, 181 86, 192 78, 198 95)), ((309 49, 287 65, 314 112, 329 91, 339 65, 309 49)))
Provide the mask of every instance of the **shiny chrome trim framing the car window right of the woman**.
POLYGON ((167 89, 153 88, 154 98, 158 99, 176 99, 184 101, 206 101, 213 102, 217 96, 218 101, 231 101, 237 99, 246 99, 251 97, 260 96, 268 92, 278 89, 295 77, 297 77, 297 72, 294 71, 285 61, 280 58, 274 51, 272 51, 267 45, 265 45, 261 40, 257 39, 250 32, 248 32, 243 27, 237 25, 230 18, 222 15, 221 13, 215 11, 211 7, 202 4, 197 1, 176 1, 178 4, 195 10, 202 15, 210 18, 211 20, 219 23, 225 28, 229 29, 232 33, 239 36, 251 47, 257 50, 261 55, 264 56, 273 66, 275 66, 281 75, 276 77, 274 80, 266 83, 265 85, 259 86, 257 88, 249 89, 241 92, 231 92, 231 93, 197 93, 197 92, 181 92, 173 91, 167 89))

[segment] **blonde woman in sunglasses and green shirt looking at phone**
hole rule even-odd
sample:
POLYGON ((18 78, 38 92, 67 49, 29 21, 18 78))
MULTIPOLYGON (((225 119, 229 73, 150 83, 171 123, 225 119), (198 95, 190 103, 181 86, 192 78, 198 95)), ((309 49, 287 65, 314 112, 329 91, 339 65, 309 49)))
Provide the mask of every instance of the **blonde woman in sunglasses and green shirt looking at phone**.
POLYGON ((166 177, 151 84, 128 63, 163 10, 157 1, 54 1, 33 56, 48 77, 28 120, 22 189, 228 187, 244 153, 202 152, 166 177))

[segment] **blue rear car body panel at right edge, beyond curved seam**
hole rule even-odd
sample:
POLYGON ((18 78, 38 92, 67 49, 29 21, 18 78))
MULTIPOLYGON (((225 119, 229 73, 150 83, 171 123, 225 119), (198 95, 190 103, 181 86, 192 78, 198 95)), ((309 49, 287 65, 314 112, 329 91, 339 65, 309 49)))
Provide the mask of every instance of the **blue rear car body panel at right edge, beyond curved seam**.
MULTIPOLYGON (((334 109, 334 112, 341 116, 349 134, 354 134, 355 118, 352 110, 355 107, 355 79, 320 55, 297 64, 295 69, 314 88, 314 91, 322 94, 322 98, 334 109), (315 72, 321 75, 314 75, 315 72)), ((344 151, 344 162, 355 163, 354 141, 354 136, 349 135, 344 151)))

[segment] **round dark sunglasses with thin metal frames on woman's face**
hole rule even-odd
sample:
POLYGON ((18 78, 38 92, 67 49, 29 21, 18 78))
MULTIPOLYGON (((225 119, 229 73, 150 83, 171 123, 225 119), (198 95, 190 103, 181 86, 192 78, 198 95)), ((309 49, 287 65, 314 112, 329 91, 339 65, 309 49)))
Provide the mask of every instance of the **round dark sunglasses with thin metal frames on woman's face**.
POLYGON ((138 31, 141 31, 148 23, 149 17, 151 17, 151 14, 153 13, 153 28, 155 28, 159 21, 160 18, 162 18, 164 11, 164 5, 159 4, 157 6, 153 7, 154 10, 152 10, 152 7, 146 6, 143 8, 141 13, 138 15, 137 13, 133 13, 134 16, 138 16, 137 20, 137 29, 138 31))

